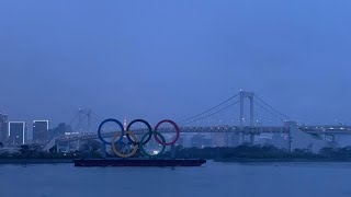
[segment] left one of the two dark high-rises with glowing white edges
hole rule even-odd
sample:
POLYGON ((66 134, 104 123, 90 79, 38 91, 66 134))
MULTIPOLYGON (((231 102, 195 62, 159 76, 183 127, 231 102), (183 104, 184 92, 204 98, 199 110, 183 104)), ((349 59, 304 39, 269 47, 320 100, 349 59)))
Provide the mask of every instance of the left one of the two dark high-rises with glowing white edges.
POLYGON ((25 121, 9 121, 8 143, 12 146, 24 144, 26 140, 25 121))

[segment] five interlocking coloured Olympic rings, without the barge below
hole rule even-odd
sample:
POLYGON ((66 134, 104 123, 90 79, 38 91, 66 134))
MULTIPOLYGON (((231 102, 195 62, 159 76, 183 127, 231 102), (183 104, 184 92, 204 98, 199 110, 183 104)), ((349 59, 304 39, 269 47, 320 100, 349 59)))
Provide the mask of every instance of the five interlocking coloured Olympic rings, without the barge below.
POLYGON ((146 121, 144 119, 135 119, 131 124, 128 124, 126 131, 125 131, 121 121, 113 119, 113 118, 110 118, 110 119, 105 119, 104 121, 102 121, 100 124, 99 130, 98 130, 98 137, 101 140, 101 142, 104 144, 111 144, 112 151, 114 152, 114 154, 116 154, 117 157, 121 157, 121 158, 131 158, 131 157, 135 155, 138 150, 140 150, 143 155, 149 157, 149 158, 155 158, 155 157, 161 155, 165 152, 167 146, 176 144, 177 140, 179 139, 179 136, 180 136, 180 129, 179 129, 178 125, 174 121, 169 120, 169 119, 165 119, 165 120, 161 120, 160 123, 158 123, 155 127, 155 130, 152 130, 152 127, 150 126, 150 124, 148 121, 146 121), (121 132, 116 132, 114 135, 111 142, 104 140, 103 137, 101 136, 102 126, 106 123, 110 123, 110 121, 117 124, 122 130, 121 132), (140 141, 138 140, 136 134, 131 130, 132 125, 135 123, 143 123, 147 126, 147 132, 141 137, 140 141), (157 131, 158 128, 160 127, 160 125, 165 124, 165 123, 169 123, 176 128, 177 135, 176 135, 176 138, 171 142, 166 142, 165 137, 160 132, 157 131), (150 154, 150 153, 146 152, 146 150, 144 148, 144 146, 146 146, 151 140, 152 136, 155 137, 155 140, 162 147, 161 150, 155 154, 150 154), (129 143, 132 143, 134 146, 133 150, 129 153, 122 153, 121 151, 117 150, 116 144, 117 144, 117 142, 121 142, 124 137, 126 137, 128 139, 129 143))

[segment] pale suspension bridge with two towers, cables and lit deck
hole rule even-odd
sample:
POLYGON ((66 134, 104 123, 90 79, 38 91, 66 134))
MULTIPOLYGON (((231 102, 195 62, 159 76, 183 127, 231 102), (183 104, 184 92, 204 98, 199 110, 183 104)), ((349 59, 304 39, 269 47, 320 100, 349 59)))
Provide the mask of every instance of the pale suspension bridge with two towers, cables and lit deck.
MULTIPOLYGON (((92 130, 92 121, 99 124, 103 119, 105 118, 90 109, 79 109, 70 124, 77 121, 72 134, 58 136, 53 139, 52 144, 67 147, 69 143, 77 142, 79 147, 81 141, 95 140, 98 136, 92 130)), ((301 146, 315 144, 316 149, 324 146, 336 146, 336 136, 351 135, 349 126, 298 126, 290 116, 284 115, 260 96, 246 91, 240 91, 228 100, 178 123, 181 134, 234 134, 235 136, 231 137, 238 138, 239 144, 252 146, 254 137, 262 134, 284 135, 286 149, 290 151, 301 146), (248 105, 246 101, 248 101, 248 105)), ((124 121, 124 126, 126 126, 126 121, 124 121)), ((146 129, 136 128, 133 131, 141 135, 146 129)), ((163 127, 160 132, 171 134, 174 130, 172 127, 163 127)), ((102 134, 104 138, 112 138, 114 135, 115 130, 102 134)))

